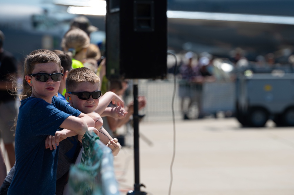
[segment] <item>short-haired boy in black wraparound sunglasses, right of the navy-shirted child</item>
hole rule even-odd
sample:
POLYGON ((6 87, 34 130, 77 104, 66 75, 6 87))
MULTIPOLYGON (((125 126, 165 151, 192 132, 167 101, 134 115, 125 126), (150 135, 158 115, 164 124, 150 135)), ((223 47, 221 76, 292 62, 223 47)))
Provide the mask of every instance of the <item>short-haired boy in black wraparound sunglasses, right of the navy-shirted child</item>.
MULTIPOLYGON (((116 156, 120 151, 120 144, 116 138, 112 138, 108 132, 101 127, 103 124, 102 118, 94 110, 97 108, 99 99, 101 97, 101 91, 99 91, 100 78, 89 68, 81 67, 72 69, 66 78, 66 93, 65 98, 69 101, 70 106, 78 109, 82 113, 91 116, 92 118, 99 118, 96 121, 96 128, 99 130, 99 138, 106 146, 110 147, 113 156, 116 156)), ((103 96, 105 96, 104 94, 103 96)), ((109 99, 108 103, 109 104, 109 99)), ((103 107, 100 106, 99 107, 103 107)), ((56 140, 59 133, 57 132, 55 136, 49 136, 46 141, 46 147, 55 149, 55 143, 59 142, 59 159, 57 167, 57 182, 56 182, 56 195, 62 194, 64 187, 67 183, 69 168, 72 163, 77 159, 77 155, 81 150, 81 143, 78 142, 78 136, 74 137, 63 137, 56 140), (63 140, 64 139, 64 140, 63 140), (61 141, 62 140, 62 141, 61 141), (75 149, 74 149, 75 148, 75 149), (69 159, 69 151, 75 151, 72 160, 69 159)))

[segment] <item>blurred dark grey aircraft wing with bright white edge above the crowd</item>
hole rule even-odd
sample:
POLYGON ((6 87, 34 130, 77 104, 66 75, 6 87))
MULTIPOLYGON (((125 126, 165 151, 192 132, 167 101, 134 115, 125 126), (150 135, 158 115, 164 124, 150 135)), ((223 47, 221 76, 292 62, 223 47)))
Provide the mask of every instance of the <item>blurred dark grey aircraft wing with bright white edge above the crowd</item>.
POLYGON ((264 55, 294 45, 294 17, 167 11, 168 46, 228 56, 237 47, 264 55))

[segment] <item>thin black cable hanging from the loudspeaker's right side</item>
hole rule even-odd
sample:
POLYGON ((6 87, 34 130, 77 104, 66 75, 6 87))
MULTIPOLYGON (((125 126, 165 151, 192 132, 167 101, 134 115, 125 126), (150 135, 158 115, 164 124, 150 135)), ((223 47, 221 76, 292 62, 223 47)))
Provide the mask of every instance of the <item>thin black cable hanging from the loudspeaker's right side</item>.
POLYGON ((171 186, 173 183, 173 162, 175 160, 175 156, 176 156, 176 123, 175 123, 175 112, 174 112, 174 108, 173 108, 173 104, 174 104, 174 100, 175 100, 175 95, 176 95, 176 69, 177 69, 177 57, 176 55, 174 55, 171 52, 167 52, 168 54, 171 54, 175 57, 176 59, 176 63, 175 63, 175 69, 174 69, 174 86, 173 86, 173 99, 172 99, 172 103, 171 103, 171 109, 172 109, 172 114, 173 114, 173 157, 171 160, 171 167, 170 167, 170 172, 171 172, 171 181, 170 181, 170 185, 169 185, 169 189, 168 189, 168 194, 171 194, 171 186))

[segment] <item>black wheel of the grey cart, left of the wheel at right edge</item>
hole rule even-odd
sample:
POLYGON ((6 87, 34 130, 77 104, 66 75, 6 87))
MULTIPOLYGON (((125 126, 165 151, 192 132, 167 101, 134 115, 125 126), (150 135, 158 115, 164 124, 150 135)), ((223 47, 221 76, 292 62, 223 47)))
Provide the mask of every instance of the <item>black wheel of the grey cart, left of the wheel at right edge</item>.
POLYGON ((253 127, 264 127, 268 121, 269 114, 263 108, 251 108, 249 112, 249 123, 253 127))

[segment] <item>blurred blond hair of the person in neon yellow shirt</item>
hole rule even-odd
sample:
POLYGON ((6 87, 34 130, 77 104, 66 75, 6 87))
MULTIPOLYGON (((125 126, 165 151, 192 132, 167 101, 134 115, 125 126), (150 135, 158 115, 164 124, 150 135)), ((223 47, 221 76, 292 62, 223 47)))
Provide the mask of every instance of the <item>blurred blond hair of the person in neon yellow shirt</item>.
POLYGON ((81 50, 88 48, 90 45, 90 38, 87 33, 79 28, 69 30, 61 41, 61 47, 65 52, 70 52, 71 57, 81 50))

